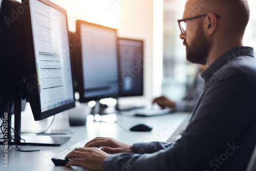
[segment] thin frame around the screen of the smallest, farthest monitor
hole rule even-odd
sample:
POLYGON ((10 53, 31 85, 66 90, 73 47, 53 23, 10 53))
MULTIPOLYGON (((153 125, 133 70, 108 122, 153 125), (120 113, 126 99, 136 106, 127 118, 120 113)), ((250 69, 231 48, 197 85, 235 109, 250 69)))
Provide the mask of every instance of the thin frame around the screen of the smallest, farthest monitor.
POLYGON ((129 93, 129 94, 123 94, 122 90, 120 90, 119 97, 135 97, 135 96, 143 96, 144 95, 144 40, 141 39, 133 39, 133 38, 125 38, 125 37, 118 37, 118 61, 119 61, 119 67, 120 67, 120 72, 119 72, 119 77, 122 82, 122 73, 121 73, 121 55, 120 55, 120 47, 119 47, 119 40, 131 40, 131 41, 139 41, 142 43, 142 70, 141 70, 141 77, 142 77, 142 84, 140 87, 140 92, 139 93, 129 93))

